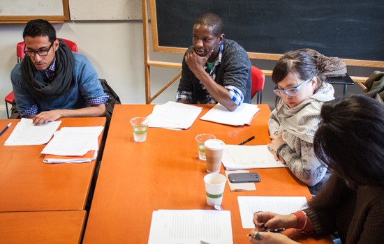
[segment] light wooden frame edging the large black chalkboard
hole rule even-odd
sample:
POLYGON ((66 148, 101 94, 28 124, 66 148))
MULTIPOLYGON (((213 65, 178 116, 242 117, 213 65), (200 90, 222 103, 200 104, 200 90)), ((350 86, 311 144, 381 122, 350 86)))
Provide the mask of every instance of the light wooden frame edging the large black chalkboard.
MULTIPOLYGON (((152 46, 154 52, 184 53, 185 47, 166 47, 158 43, 158 22, 156 12, 156 0, 149 0, 152 27, 152 46)), ((279 60, 282 54, 269 54, 259 52, 248 52, 250 59, 279 60)), ((384 68, 384 61, 371 61, 362 59, 343 59, 348 66, 384 68)))

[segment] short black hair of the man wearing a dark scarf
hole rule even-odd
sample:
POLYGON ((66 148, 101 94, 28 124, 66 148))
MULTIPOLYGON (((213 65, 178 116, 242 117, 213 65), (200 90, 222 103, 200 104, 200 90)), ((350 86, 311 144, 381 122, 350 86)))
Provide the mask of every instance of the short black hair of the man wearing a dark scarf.
POLYGON ((47 20, 30 20, 22 33, 22 38, 24 40, 26 36, 30 36, 32 38, 36 36, 47 36, 52 43, 56 40, 56 30, 50 22, 47 22, 47 20))

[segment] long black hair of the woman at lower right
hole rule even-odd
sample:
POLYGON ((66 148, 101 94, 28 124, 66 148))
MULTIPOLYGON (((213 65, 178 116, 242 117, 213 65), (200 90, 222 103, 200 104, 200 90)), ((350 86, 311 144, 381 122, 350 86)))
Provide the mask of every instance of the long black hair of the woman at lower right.
POLYGON ((384 185, 384 106, 367 96, 325 102, 314 151, 350 185, 384 185))

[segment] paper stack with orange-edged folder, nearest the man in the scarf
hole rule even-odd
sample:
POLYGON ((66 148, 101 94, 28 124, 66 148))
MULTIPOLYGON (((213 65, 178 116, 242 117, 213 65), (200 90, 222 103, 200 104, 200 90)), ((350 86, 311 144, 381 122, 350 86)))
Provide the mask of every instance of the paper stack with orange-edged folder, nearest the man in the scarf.
POLYGON ((103 126, 64 127, 54 134, 41 153, 43 162, 90 162, 96 159, 103 126))

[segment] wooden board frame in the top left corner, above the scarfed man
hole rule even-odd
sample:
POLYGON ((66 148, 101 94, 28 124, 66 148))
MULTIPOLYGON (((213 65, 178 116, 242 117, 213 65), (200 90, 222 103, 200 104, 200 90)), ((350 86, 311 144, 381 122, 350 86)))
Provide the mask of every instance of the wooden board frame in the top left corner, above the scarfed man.
POLYGON ((59 23, 70 20, 68 0, 63 2, 63 15, 0 15, 1 24, 27 23, 29 20, 44 19, 59 23))

